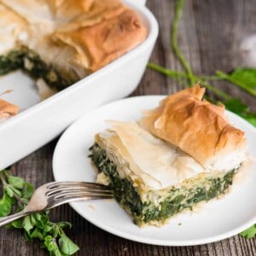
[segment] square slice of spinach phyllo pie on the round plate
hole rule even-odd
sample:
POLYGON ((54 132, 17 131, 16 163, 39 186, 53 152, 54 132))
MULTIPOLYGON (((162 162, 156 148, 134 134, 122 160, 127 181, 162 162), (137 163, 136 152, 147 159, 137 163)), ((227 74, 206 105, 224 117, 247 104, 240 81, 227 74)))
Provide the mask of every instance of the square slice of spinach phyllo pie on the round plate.
POLYGON ((247 160, 244 132, 224 106, 202 100, 196 85, 167 96, 138 122, 108 121, 90 158, 97 181, 139 225, 161 225, 178 212, 224 195, 247 160))

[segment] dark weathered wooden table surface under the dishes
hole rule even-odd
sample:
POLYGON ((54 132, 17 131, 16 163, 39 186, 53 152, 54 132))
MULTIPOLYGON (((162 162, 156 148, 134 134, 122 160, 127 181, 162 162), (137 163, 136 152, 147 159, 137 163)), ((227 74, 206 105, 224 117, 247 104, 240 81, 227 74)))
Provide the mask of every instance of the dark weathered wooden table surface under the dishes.
MULTIPOLYGON (((147 6, 160 25, 160 35, 151 61, 182 70, 170 46, 170 25, 175 1, 148 0, 147 6)), ((230 72, 235 67, 246 65, 240 45, 243 38, 253 33, 256 33, 255 0, 190 0, 185 3, 178 42, 195 73, 211 74, 216 69, 230 72)), ((256 111, 255 98, 230 84, 215 85, 232 96, 241 97, 256 111)), ((132 95, 163 95, 181 88, 172 79, 147 69, 132 95)), ((57 140, 47 144, 15 163, 11 166, 12 172, 36 187, 52 181, 51 160, 56 142, 57 140)), ((81 218, 68 205, 55 208, 51 216, 55 221, 67 220, 73 224, 72 230, 68 230, 67 234, 80 247, 77 255, 256 255, 256 238, 246 240, 241 236, 232 236, 201 246, 163 247, 128 241, 108 234, 81 218)), ((48 254, 37 242, 26 241, 19 230, 1 229, 0 237, 0 255, 48 254)))

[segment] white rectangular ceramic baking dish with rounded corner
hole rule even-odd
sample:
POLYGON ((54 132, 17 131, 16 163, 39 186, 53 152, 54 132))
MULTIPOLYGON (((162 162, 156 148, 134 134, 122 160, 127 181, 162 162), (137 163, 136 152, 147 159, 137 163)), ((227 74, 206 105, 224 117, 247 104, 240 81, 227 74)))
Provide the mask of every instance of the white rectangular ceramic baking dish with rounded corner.
POLYGON ((136 49, 43 102, 38 102, 32 80, 22 73, 11 73, 0 79, 0 92, 10 85, 15 89, 2 97, 18 103, 22 110, 0 123, 0 170, 48 143, 83 113, 128 96, 136 89, 154 47, 158 25, 143 4, 124 2, 137 10, 148 29, 148 37, 136 49))

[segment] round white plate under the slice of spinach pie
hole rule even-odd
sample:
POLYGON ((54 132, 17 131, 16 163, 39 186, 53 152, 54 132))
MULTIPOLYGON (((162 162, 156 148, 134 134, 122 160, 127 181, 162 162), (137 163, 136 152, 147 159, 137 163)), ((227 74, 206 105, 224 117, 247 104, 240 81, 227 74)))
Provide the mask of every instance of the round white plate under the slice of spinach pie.
MULTIPOLYGON (((141 111, 154 108, 162 96, 138 96, 112 102, 87 113, 64 132, 56 145, 53 170, 56 181, 96 181, 89 148, 97 132, 108 128, 105 120, 131 121, 141 111)), ((250 154, 256 158, 256 130, 234 113, 230 122, 246 132, 250 154)), ((113 201, 83 201, 70 205, 76 212, 116 236, 154 245, 188 246, 218 241, 245 230, 256 222, 256 165, 241 172, 229 194, 218 200, 171 218, 160 228, 138 228, 126 212, 113 201)))

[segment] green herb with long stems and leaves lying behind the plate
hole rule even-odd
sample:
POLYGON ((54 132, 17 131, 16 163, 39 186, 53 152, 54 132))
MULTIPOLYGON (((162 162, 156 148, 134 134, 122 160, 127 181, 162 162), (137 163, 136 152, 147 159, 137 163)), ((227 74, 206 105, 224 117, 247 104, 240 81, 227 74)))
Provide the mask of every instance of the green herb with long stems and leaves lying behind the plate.
MULTIPOLYGON (((154 69, 159 73, 165 74, 169 78, 176 80, 178 83, 183 84, 184 87, 190 87, 195 84, 195 82, 200 82, 200 84, 205 86, 207 90, 212 91, 215 96, 220 97, 222 99, 221 102, 225 105, 227 109, 240 115, 243 119, 246 119, 249 123, 256 127, 256 113, 253 113, 253 111, 251 111, 247 104, 241 102, 241 99, 230 96, 226 94, 223 90, 219 90, 218 88, 210 84, 211 81, 214 80, 228 81, 230 82, 230 84, 235 85, 241 90, 245 90, 250 95, 256 96, 256 69, 236 68, 230 74, 217 70, 214 75, 210 76, 195 75, 189 65, 189 61, 186 60, 177 44, 178 24, 183 14, 183 5, 184 0, 177 0, 175 14, 171 26, 171 43, 173 53, 174 55, 176 55, 177 60, 180 61, 180 63, 182 64, 184 72, 161 67, 160 65, 152 62, 148 62, 148 67, 154 69)), ((219 102, 213 96, 207 96, 207 100, 213 103, 219 102)), ((242 231, 240 235, 246 238, 256 237, 256 224, 254 224, 247 230, 242 231)))

